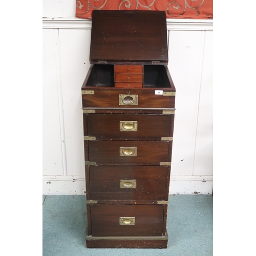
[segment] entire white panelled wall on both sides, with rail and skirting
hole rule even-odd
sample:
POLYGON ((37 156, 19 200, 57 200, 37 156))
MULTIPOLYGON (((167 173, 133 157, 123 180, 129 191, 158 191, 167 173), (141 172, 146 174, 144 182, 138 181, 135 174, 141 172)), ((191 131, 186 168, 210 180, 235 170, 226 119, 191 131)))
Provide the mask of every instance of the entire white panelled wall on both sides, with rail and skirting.
MULTIPOLYGON (((177 90, 170 194, 211 194, 212 22, 168 19, 167 30, 177 90)), ((90 66, 90 36, 88 20, 43 19, 46 195, 84 194, 81 86, 90 66)))

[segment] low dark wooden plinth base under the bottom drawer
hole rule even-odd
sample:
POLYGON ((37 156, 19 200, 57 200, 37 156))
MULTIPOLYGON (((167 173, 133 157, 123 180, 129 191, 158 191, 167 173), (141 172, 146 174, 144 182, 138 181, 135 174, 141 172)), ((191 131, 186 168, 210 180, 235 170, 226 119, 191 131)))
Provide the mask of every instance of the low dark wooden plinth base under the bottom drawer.
POLYGON ((168 236, 162 237, 86 237, 87 248, 167 248, 168 236))

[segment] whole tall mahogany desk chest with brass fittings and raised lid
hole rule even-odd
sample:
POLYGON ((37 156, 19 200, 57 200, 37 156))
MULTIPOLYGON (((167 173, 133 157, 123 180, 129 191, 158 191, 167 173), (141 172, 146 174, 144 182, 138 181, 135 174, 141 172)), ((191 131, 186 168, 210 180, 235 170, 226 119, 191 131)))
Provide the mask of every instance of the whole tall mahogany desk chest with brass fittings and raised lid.
POLYGON ((165 12, 93 11, 82 85, 88 248, 166 248, 175 114, 165 12))

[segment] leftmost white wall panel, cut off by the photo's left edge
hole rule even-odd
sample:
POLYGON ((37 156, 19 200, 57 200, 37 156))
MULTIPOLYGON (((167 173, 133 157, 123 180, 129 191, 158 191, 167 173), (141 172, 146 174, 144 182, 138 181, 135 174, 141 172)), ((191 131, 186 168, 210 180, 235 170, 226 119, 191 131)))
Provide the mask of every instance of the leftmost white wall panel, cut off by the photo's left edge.
MULTIPOLYGON (((43 135, 43 175, 63 175, 63 159, 61 126, 63 118, 60 115, 61 88, 58 88, 59 67, 56 66, 55 34, 57 29, 43 29, 43 87, 42 87, 42 135, 43 135)), ((58 38, 56 36, 56 38, 58 38)))

